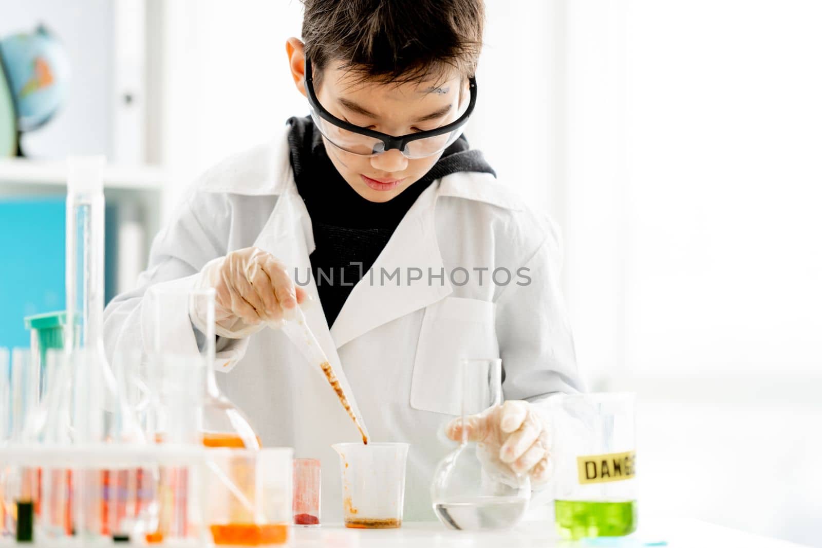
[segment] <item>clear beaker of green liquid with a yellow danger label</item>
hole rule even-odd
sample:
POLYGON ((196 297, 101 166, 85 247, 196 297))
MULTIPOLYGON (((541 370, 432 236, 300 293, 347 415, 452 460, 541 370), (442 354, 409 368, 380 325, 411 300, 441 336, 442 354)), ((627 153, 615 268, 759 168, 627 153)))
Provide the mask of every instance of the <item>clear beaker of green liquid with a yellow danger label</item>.
POLYGON ((557 531, 570 540, 634 532, 634 394, 570 394, 551 400, 555 411, 569 419, 563 421, 563 441, 574 450, 556 462, 561 483, 554 501, 557 531))

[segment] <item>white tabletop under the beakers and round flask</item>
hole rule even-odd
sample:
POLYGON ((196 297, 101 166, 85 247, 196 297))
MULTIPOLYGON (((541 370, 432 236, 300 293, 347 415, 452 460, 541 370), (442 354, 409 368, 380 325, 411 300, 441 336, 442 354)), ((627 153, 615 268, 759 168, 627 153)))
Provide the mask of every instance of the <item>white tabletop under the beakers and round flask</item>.
POLYGON ((797 548, 797 544, 756 536, 720 527, 695 519, 658 519, 640 526, 640 530, 624 538, 590 541, 562 541, 553 531, 552 523, 526 522, 502 532, 463 532, 446 530, 439 522, 404 522, 399 529, 346 529, 339 524, 321 527, 294 527, 294 548, 403 548, 420 546, 435 548, 550 548, 619 547, 640 548, 667 546, 670 548, 797 548))

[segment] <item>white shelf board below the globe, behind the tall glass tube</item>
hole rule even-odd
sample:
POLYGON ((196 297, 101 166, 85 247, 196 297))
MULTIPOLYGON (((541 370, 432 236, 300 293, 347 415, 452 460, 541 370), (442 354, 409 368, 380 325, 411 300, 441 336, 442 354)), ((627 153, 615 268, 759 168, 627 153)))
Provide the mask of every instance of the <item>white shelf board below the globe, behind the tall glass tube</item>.
MULTIPOLYGON (((0 185, 65 185, 67 164, 60 160, 0 158, 0 185)), ((160 190, 169 182, 168 173, 150 165, 107 165, 105 188, 160 190)))

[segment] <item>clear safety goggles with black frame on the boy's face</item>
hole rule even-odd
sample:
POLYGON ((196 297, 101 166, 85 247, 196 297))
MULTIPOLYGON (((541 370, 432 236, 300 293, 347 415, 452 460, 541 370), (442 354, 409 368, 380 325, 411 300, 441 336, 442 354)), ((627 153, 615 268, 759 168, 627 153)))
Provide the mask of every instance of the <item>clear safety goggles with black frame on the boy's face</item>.
POLYGON ((332 145, 357 156, 370 157, 385 151, 397 150, 409 160, 416 160, 446 150, 462 134, 463 126, 468 122, 474 104, 477 103, 477 81, 474 77, 469 77, 469 91, 468 106, 454 122, 440 128, 395 137, 355 126, 323 108, 314 92, 311 60, 306 58, 306 95, 308 104, 311 105, 314 125, 332 145))

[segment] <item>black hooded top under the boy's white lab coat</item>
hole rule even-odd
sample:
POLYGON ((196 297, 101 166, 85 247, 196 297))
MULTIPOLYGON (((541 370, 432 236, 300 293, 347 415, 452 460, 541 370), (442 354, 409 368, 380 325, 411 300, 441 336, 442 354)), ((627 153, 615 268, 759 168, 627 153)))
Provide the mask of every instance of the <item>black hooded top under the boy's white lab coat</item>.
POLYGON ((422 179, 399 196, 388 202, 370 202, 351 188, 331 163, 310 117, 289 118, 289 124, 294 179, 314 231, 312 274, 329 326, 360 273, 372 267, 399 221, 434 180, 459 171, 494 173, 482 153, 469 150, 465 137, 459 137, 422 179))

